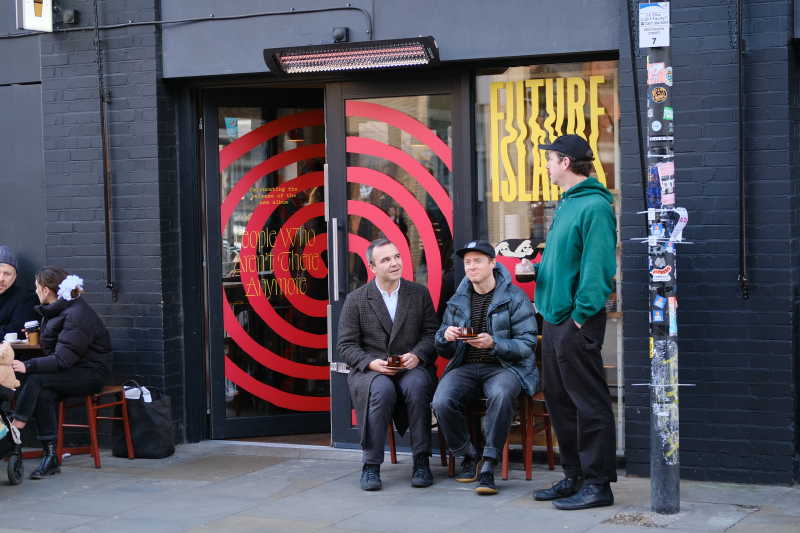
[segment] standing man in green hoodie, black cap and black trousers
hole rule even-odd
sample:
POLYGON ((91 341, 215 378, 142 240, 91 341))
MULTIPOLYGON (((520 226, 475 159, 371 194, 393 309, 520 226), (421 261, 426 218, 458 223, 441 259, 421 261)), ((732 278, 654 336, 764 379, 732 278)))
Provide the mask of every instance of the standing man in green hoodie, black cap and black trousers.
POLYGON ((613 198, 589 177, 594 155, 584 139, 562 135, 539 148, 548 151, 550 180, 564 191, 538 265, 535 301, 544 318, 544 394, 565 477, 533 497, 562 510, 613 505, 616 434, 601 355, 616 273, 613 198))

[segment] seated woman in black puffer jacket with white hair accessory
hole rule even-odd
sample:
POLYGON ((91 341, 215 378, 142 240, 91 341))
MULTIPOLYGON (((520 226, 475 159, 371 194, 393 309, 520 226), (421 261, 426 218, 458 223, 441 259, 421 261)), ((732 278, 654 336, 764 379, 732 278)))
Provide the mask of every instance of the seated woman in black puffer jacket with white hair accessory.
POLYGON ((13 424, 22 429, 35 417, 44 450, 31 479, 61 471, 55 451, 59 400, 100 392, 110 374, 111 338, 82 292, 83 280, 62 268, 45 267, 36 274, 45 355, 12 364, 15 372, 25 374, 13 424))

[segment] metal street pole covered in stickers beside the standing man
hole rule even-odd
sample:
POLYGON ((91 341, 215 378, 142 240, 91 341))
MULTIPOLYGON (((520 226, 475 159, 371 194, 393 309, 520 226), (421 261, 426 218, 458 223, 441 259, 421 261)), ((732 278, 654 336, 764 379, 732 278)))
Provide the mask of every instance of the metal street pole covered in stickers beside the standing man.
POLYGON ((639 3, 647 53, 647 238, 650 273, 650 496, 661 514, 680 511, 676 244, 686 210, 675 207, 673 72, 669 2, 639 3), (666 21, 666 24, 665 24, 666 21))

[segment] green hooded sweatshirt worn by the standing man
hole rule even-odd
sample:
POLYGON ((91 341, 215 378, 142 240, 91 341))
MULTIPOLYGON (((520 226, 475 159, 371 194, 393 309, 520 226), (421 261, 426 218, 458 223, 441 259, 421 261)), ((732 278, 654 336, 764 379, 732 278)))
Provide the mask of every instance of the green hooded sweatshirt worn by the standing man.
POLYGON ((536 275, 536 309, 551 324, 583 324, 605 306, 617 271, 612 202, 595 178, 562 195, 536 275))

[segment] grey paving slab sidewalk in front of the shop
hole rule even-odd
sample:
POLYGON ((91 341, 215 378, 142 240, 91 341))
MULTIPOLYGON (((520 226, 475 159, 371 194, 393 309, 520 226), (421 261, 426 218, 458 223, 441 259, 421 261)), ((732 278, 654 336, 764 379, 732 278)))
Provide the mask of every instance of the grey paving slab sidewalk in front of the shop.
MULTIPOLYGON (((515 532, 800 533, 800 487, 683 481, 681 512, 651 513, 648 479, 620 475, 616 505, 564 512, 531 499, 560 479, 544 466, 498 480, 497 496, 447 478, 409 485, 410 456, 385 464, 384 489, 358 488, 360 452, 312 446, 205 441, 161 460, 68 457, 51 479, 2 484, 0 533, 11 532, 515 532)), ((35 461, 26 462, 26 471, 35 461)))

